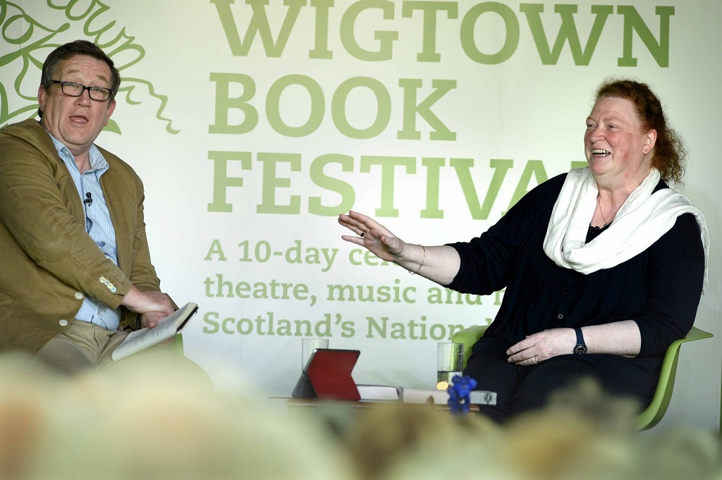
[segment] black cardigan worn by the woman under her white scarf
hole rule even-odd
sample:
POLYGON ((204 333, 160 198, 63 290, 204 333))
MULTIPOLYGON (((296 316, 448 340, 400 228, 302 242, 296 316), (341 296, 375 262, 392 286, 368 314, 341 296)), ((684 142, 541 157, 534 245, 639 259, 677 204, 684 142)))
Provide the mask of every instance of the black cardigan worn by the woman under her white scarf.
MULTIPOLYGON (((635 320, 642 339, 638 359, 653 357, 643 363, 656 370, 669 344, 685 336, 695 321, 705 269, 697 221, 684 214, 638 256, 580 274, 557 266, 542 248, 565 177, 534 188, 481 236, 450 244, 461 256, 461 268, 448 287, 473 294, 505 288, 484 336, 510 345, 547 328, 635 320)), ((662 180, 655 191, 660 188, 667 188, 662 180)))

